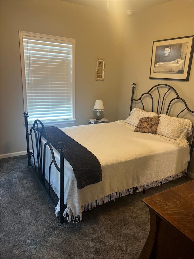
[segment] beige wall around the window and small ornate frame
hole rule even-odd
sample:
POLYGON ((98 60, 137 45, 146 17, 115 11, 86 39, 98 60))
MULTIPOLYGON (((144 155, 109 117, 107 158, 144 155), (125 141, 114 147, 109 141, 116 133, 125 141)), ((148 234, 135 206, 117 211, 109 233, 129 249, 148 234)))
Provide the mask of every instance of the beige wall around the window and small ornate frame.
MULTIPOLYGON (((95 100, 109 121, 117 116, 119 23, 106 12, 64 1, 1 1, 1 154, 26 150, 18 31, 76 39, 74 124, 88 124, 95 100), (96 58, 105 59, 105 80, 95 81, 96 58)), ((122 27, 121 27, 122 28, 122 27)))

